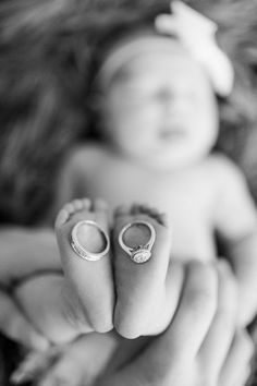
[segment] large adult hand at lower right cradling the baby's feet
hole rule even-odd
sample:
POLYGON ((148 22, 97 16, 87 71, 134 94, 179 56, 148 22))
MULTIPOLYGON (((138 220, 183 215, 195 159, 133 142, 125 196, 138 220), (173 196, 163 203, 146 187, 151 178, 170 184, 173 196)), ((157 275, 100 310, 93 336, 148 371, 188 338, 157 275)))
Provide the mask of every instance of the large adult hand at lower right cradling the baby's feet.
POLYGON ((97 381, 96 369, 90 377, 85 362, 79 364, 86 340, 77 340, 41 385, 243 386, 253 343, 246 331, 237 329, 235 313, 236 286, 230 268, 224 263, 218 268, 189 263, 178 312, 163 334, 123 339, 103 373, 99 366, 97 381))

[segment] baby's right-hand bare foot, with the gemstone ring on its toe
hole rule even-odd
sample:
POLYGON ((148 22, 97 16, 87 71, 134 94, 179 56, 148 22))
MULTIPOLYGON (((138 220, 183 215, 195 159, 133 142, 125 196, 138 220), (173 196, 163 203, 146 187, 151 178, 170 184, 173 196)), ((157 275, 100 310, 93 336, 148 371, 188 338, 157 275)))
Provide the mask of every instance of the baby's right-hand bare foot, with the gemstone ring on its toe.
POLYGON ((163 216, 142 205, 119 208, 115 213, 113 248, 117 330, 131 339, 160 333, 167 326, 163 309, 167 307, 166 278, 171 254, 171 231, 163 216), (133 225, 134 221, 139 222, 133 225), (122 231, 127 225, 131 226, 122 231), (149 241, 154 241, 150 257, 147 249, 143 248, 149 241), (126 246, 134 248, 135 254, 126 246), (146 262, 142 264, 144 260, 146 262))

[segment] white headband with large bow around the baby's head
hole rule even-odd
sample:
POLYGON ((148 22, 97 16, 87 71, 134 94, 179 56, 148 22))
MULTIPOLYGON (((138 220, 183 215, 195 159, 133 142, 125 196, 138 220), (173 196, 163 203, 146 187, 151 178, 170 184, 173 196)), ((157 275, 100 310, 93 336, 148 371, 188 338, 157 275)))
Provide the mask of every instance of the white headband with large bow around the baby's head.
MULTIPOLYGON (((216 23, 179 0, 172 1, 171 11, 172 14, 156 17, 156 31, 160 34, 175 35, 192 57, 204 65, 216 93, 222 97, 229 96, 233 87, 234 70, 230 59, 217 45, 216 23)), ((157 46, 152 43, 157 39, 160 48, 170 44, 169 37, 160 40, 160 36, 152 35, 131 39, 115 48, 100 68, 99 75, 103 83, 112 79, 135 55, 151 49, 156 51, 157 46)))

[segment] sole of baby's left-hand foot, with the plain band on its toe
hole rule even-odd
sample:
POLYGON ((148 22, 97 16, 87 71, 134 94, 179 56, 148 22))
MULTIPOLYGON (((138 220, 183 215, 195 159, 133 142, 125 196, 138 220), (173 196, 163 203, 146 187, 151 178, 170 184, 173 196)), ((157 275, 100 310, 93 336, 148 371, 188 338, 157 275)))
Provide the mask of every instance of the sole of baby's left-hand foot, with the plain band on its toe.
POLYGON ((112 329, 114 288, 111 261, 106 253, 109 239, 106 203, 83 198, 64 205, 57 217, 56 231, 71 293, 68 298, 72 299, 71 317, 78 325, 89 323, 99 333, 112 329), (78 221, 84 222, 76 226, 78 221))

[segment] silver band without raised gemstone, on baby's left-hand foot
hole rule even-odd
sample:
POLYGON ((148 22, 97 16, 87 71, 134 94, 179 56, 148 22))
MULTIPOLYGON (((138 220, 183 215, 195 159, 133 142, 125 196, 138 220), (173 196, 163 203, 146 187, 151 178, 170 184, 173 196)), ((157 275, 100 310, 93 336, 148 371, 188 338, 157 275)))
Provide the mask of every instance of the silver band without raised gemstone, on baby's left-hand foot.
POLYGON ((71 246, 79 257, 85 258, 89 262, 97 262, 97 261, 101 260, 109 252, 110 239, 109 239, 107 232, 97 222, 95 222, 93 220, 82 220, 82 221, 78 221, 77 224, 75 224, 75 226, 72 228, 71 246), (87 251, 81 244, 78 237, 77 237, 77 232, 78 232, 78 229, 84 225, 87 225, 87 226, 89 225, 89 226, 97 228, 97 230, 103 236, 106 245, 102 251, 100 251, 98 253, 94 253, 94 252, 87 251))

